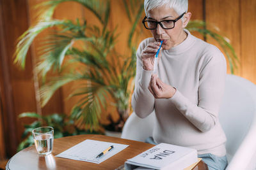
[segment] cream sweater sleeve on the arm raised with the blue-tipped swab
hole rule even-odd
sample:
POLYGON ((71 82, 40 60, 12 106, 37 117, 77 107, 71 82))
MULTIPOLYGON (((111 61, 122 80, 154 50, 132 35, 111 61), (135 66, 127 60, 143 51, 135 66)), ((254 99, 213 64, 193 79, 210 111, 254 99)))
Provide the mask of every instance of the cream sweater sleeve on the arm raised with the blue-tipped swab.
POLYGON ((136 79, 132 94, 132 108, 140 118, 147 117, 154 110, 154 96, 148 90, 148 85, 153 71, 143 69, 141 52, 147 45, 148 39, 141 42, 137 50, 136 79))

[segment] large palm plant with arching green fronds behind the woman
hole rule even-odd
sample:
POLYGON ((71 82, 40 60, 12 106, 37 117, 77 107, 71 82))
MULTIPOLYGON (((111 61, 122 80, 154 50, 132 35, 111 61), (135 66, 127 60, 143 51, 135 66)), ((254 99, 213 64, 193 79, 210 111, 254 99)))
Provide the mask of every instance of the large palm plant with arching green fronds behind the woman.
MULTIPOLYGON (((29 46, 36 36, 45 29, 56 27, 55 31, 43 39, 41 55, 36 62, 37 72, 44 83, 40 88, 42 106, 49 102, 57 89, 76 82, 76 88, 70 92, 70 97, 79 96, 79 101, 73 106, 70 118, 77 124, 84 125, 85 129, 97 129, 100 114, 111 103, 120 118, 114 121, 109 117, 111 124, 105 128, 122 131, 122 126, 131 113, 129 99, 134 89, 136 46, 143 32, 142 24, 138 24, 143 18, 143 1, 122 1, 125 16, 131 22, 131 31, 127 34, 129 53, 125 56, 116 52, 116 29, 108 28, 110 4, 113 1, 71 0, 92 11, 100 26, 88 25, 85 18, 77 19, 76 22, 52 18, 56 6, 66 1, 68 0, 54 0, 40 4, 44 11, 37 24, 20 36, 15 62, 24 67, 29 46), (47 74, 49 71, 56 71, 58 74, 51 76, 47 74)), ((202 21, 189 22, 188 29, 216 39, 225 49, 230 66, 233 66, 236 53, 223 36, 205 29, 202 21)))

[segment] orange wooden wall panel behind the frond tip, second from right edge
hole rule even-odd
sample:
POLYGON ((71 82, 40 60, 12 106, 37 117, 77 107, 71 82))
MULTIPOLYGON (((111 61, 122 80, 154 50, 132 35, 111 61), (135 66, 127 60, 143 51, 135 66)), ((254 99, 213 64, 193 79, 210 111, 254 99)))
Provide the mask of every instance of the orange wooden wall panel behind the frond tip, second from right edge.
MULTIPOLYGON (((234 47, 237 57, 240 59, 241 67, 243 67, 243 61, 241 60, 241 22, 239 2, 239 0, 205 0, 205 20, 207 23, 217 26, 221 31, 221 35, 230 39, 230 43, 234 47)), ((207 42, 218 46, 218 48, 223 52, 218 43, 214 39, 209 38, 209 36, 207 36, 207 42)), ((241 67, 236 69, 235 74, 241 75, 241 67)), ((229 65, 227 67, 227 73, 230 73, 229 65)))

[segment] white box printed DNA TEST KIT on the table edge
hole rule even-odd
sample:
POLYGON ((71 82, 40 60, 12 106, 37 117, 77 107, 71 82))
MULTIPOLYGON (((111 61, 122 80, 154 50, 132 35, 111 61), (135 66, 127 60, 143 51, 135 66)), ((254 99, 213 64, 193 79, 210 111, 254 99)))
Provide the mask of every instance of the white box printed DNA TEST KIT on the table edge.
POLYGON ((125 169, 182 170, 198 162, 197 151, 177 145, 161 143, 125 162, 125 169))

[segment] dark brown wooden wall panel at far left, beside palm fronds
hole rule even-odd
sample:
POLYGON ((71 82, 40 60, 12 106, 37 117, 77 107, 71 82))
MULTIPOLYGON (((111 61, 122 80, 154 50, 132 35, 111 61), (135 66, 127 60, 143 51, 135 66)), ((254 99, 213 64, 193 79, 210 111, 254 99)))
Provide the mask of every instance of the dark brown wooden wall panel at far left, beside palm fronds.
MULTIPOLYGON (((6 47, 8 49, 8 66, 10 67, 10 78, 12 80, 12 96, 15 111, 15 122, 17 132, 17 144, 21 141, 21 135, 24 131, 24 124, 30 122, 30 118, 19 119, 20 113, 33 111, 36 109, 35 91, 33 90, 33 73, 31 55, 28 53, 26 59, 26 68, 20 69, 13 64, 13 53, 17 38, 28 28, 28 13, 26 1, 8 1, 11 9, 6 10, 6 47), (8 27, 8 28, 7 28, 8 27)), ((29 51, 30 52, 30 51, 29 51)), ((10 122, 8 122, 10 123, 10 122)), ((16 146, 17 147, 17 146, 16 146)), ((16 150, 15 150, 16 151, 16 150)))

